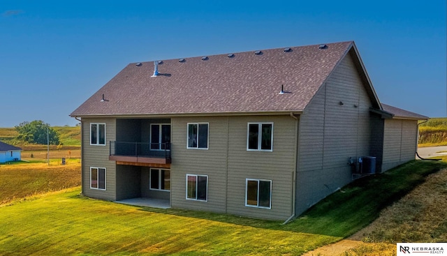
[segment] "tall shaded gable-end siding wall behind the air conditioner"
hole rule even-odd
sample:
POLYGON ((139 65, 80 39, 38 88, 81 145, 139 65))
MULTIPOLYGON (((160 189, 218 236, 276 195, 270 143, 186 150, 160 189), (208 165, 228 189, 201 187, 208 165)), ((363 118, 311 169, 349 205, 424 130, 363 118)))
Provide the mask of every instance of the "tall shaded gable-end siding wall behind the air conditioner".
POLYGON ((300 118, 297 214, 352 180, 349 158, 369 155, 370 107, 348 54, 300 118))

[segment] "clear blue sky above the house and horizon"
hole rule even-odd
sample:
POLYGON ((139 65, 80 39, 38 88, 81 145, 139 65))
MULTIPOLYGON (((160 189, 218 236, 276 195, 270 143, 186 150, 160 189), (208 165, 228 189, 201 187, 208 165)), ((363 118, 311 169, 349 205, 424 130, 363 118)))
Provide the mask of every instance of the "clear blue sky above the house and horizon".
POLYGON ((447 116, 446 1, 0 0, 0 127, 68 116, 128 63, 354 40, 382 103, 447 116))

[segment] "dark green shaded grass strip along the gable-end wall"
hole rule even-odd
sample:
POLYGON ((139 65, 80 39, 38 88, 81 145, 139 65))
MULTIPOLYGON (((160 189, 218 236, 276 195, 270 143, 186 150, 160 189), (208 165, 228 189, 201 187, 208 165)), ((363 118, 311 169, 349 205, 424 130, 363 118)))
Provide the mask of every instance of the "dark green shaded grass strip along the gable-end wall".
POLYGON ((375 220, 382 209, 413 190, 447 163, 413 160, 384 174, 358 179, 326 197, 288 228, 297 232, 347 237, 375 220))

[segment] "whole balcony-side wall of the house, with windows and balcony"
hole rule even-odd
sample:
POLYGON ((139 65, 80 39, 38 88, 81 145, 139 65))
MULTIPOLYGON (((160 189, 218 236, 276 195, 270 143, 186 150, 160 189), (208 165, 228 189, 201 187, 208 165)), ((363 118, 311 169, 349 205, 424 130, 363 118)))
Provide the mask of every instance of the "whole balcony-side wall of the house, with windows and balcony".
POLYGON ((83 193, 286 219, 293 212, 297 126, 288 115, 84 118, 83 193))

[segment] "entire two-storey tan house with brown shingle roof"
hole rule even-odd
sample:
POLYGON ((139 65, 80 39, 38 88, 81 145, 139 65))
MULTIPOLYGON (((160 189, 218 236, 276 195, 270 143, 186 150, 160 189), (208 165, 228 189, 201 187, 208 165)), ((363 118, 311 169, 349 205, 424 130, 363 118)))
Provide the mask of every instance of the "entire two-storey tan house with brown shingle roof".
POLYGON ((84 195, 275 220, 414 159, 428 119, 379 101, 352 41, 131 63, 71 116, 84 195))

